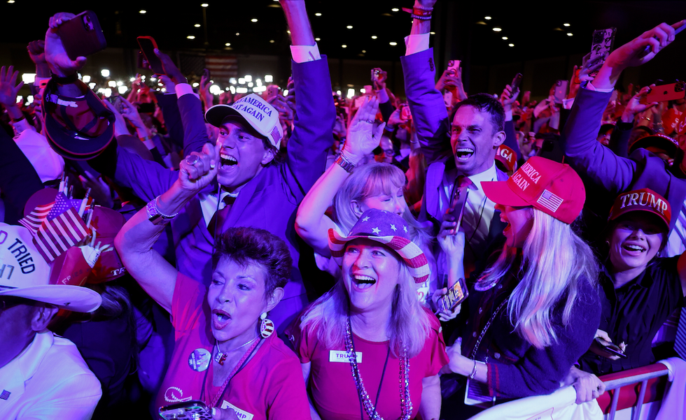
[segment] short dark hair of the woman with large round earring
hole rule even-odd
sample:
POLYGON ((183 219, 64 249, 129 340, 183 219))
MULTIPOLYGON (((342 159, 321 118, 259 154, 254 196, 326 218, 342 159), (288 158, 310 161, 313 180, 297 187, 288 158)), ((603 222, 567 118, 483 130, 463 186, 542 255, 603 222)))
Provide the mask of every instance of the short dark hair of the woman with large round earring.
POLYGON ((269 300, 276 287, 285 287, 290 278, 293 259, 288 246, 281 238, 264 229, 238 227, 227 229, 217 238, 212 268, 223 258, 239 266, 258 263, 267 273, 265 300, 269 300))

